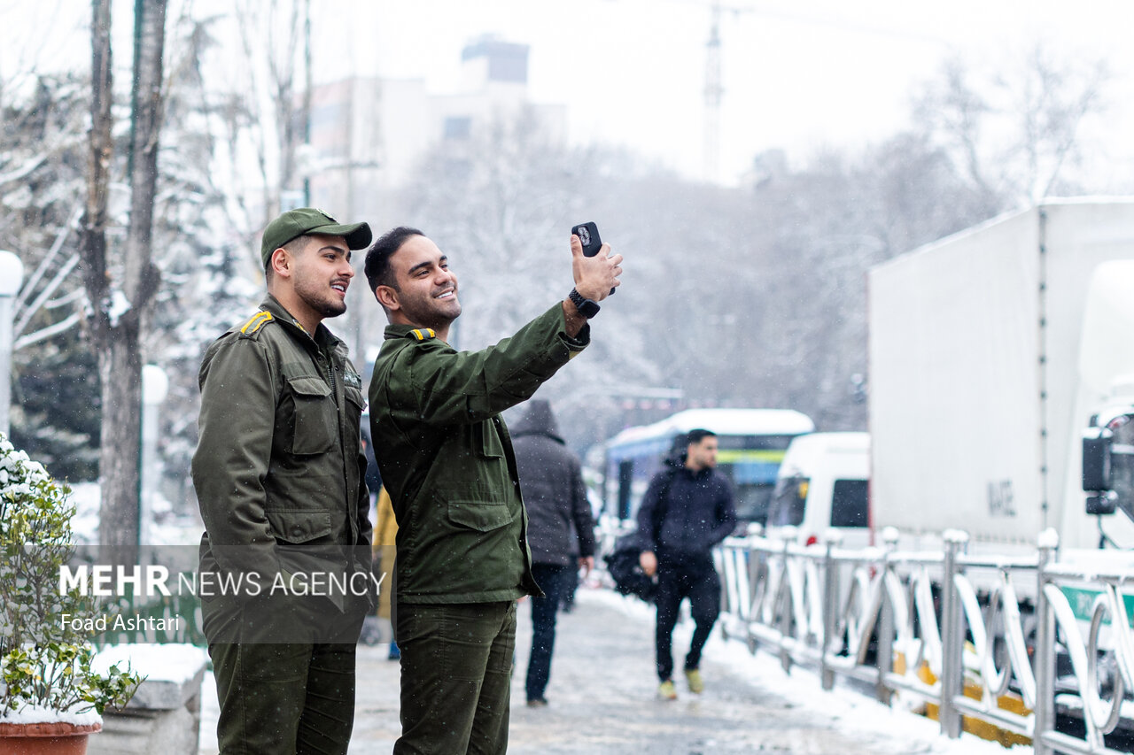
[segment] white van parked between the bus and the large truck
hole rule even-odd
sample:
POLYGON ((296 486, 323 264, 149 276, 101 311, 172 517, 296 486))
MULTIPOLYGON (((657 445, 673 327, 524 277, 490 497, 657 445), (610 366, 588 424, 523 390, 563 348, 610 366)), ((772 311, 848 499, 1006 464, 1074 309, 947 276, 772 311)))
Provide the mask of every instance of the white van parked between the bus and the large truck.
POLYGON ((822 542, 827 531, 846 548, 870 542, 870 433, 811 433, 792 440, 768 509, 770 536, 795 527, 798 541, 822 542))

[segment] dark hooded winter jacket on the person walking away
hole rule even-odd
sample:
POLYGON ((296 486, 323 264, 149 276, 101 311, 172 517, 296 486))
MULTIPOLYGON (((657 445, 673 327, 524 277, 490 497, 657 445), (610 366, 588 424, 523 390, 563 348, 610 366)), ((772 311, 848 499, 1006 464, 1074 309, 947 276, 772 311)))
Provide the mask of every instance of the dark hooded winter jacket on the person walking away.
POLYGON ((569 566, 578 533, 578 554, 594 554, 594 524, 578 458, 559 436, 551 406, 527 402, 527 413, 511 425, 519 491, 527 508, 527 544, 533 563, 569 566))

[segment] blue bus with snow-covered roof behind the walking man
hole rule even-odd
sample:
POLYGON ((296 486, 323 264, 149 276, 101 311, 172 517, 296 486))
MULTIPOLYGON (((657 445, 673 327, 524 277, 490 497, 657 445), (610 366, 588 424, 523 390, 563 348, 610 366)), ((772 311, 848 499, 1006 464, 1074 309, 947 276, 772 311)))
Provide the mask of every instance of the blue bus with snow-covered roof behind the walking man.
POLYGON ((788 443, 815 425, 792 409, 687 409, 652 425, 627 427, 604 447, 603 512, 635 517, 674 438, 696 429, 717 433, 717 469, 733 483, 737 517, 763 524, 788 443))

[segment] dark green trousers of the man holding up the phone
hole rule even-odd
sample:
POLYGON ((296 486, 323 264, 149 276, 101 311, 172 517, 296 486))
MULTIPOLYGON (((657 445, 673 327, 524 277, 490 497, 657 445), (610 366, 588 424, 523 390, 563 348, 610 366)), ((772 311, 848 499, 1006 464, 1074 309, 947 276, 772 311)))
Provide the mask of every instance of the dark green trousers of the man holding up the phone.
POLYGON ((516 602, 399 603, 401 737, 395 755, 508 749, 516 602))

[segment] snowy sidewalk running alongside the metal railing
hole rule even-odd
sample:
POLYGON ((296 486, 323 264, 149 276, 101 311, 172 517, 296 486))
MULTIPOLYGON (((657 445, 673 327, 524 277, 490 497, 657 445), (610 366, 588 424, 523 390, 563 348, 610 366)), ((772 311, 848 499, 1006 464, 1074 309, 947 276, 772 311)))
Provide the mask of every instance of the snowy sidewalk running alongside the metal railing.
MULTIPOLYGON (((653 612, 609 591, 579 588, 574 612, 560 614, 545 709, 524 705, 531 608, 521 605, 508 752, 514 755, 1004 755, 999 745, 964 735, 949 740, 938 724, 863 695, 822 692, 815 675, 786 675, 767 654, 752 656, 719 630, 705 647, 705 693, 658 701, 653 612)), ((675 633, 678 665, 692 625, 675 633)), ((386 645, 359 647, 358 706, 350 755, 387 755, 400 730, 398 664, 386 645)), ((202 755, 215 755, 215 692, 205 680, 202 755)), ((1031 748, 1010 750, 1030 754, 1031 748)))

